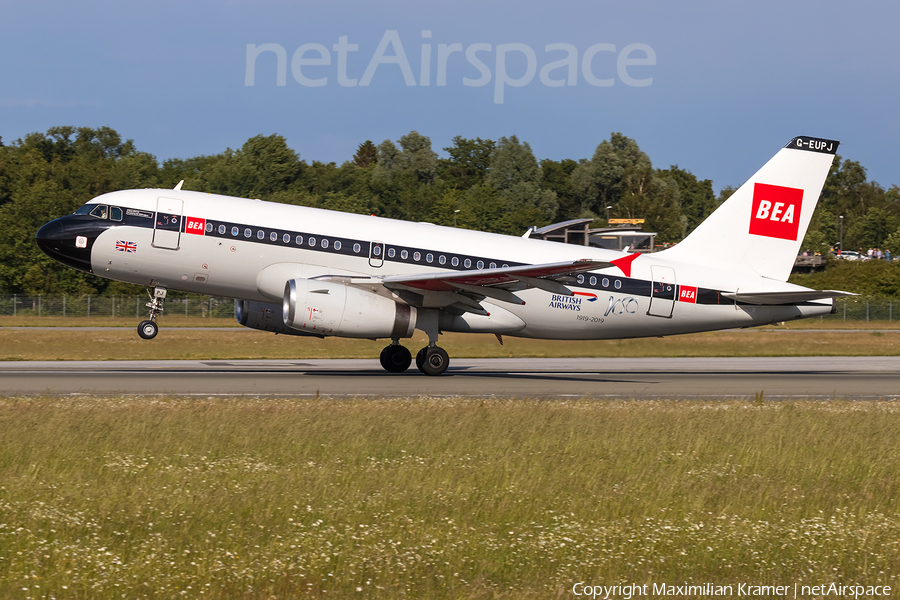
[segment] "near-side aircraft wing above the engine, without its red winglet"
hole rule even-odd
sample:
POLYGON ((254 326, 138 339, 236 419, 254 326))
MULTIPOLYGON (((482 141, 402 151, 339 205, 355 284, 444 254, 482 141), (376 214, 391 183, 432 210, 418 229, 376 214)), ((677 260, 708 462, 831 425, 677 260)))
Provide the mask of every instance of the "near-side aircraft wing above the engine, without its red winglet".
POLYGON ((529 287, 553 294, 571 296, 572 290, 557 281, 557 278, 610 266, 613 266, 610 262, 584 259, 574 262, 452 273, 389 275, 367 280, 354 279, 353 283, 377 281, 389 290, 396 292, 404 302, 413 306, 454 307, 460 312, 487 314, 487 311, 479 304, 485 298, 513 304, 525 304, 525 301, 513 292, 529 287))

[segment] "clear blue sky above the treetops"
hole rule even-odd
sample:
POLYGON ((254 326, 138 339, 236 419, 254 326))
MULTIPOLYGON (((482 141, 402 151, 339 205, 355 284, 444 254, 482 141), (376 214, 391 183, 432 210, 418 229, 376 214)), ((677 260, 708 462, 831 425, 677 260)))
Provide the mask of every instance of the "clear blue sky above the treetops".
POLYGON ((160 161, 516 135, 738 186, 797 135, 900 184, 900 3, 0 0, 0 137, 109 126, 160 161))

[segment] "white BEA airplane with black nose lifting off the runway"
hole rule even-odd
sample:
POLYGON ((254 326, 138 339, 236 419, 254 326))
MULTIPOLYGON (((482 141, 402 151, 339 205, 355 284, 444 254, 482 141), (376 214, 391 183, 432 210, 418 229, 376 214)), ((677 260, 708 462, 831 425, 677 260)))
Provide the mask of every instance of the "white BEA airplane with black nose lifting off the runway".
POLYGON ((555 340, 662 337, 834 313, 848 292, 787 283, 839 142, 792 139, 684 241, 652 254, 185 191, 103 194, 45 224, 46 254, 146 286, 157 335, 168 290, 236 300, 238 321, 296 336, 390 339, 426 375, 443 332, 555 340))

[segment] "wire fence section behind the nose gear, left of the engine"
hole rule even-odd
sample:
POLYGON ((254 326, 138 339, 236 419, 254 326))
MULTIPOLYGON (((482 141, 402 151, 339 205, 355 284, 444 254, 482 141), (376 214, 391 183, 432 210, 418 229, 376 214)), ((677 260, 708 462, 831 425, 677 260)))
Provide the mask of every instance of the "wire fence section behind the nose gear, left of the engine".
MULTIPOLYGON (((0 296, 0 316, 134 317, 148 314, 144 296, 0 296)), ((219 296, 166 298, 164 316, 235 318, 234 300, 219 296)))

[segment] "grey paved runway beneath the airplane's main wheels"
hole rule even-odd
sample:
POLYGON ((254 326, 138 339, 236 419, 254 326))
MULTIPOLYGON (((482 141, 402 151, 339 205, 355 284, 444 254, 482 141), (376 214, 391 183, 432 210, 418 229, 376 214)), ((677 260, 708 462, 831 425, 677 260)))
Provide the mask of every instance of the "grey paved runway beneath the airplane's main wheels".
POLYGON ((7 395, 900 399, 900 357, 451 359, 440 377, 377 360, 0 362, 7 395))

